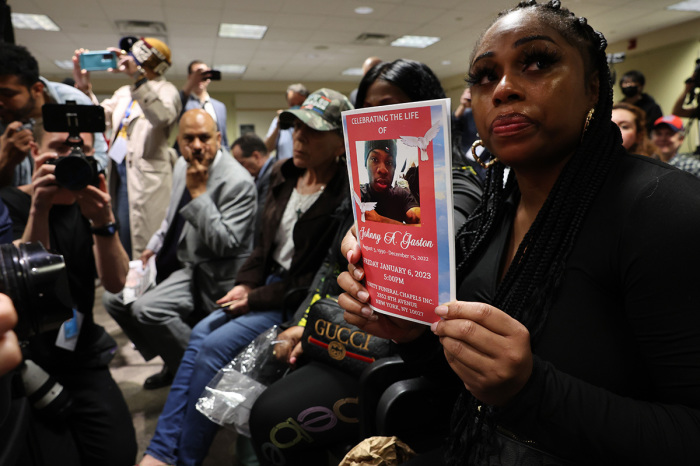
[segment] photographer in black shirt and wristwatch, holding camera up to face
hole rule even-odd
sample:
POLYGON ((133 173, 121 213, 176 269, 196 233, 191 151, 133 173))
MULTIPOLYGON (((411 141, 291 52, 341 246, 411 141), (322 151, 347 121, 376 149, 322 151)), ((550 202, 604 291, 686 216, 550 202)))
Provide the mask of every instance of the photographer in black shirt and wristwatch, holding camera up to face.
POLYGON ((73 301, 73 318, 60 329, 25 339, 27 366, 38 366, 55 379, 67 401, 53 410, 60 415, 48 415, 34 405, 29 433, 15 464, 127 466, 133 464, 137 446, 128 407, 108 368, 116 342, 94 322, 92 307, 95 277, 106 290, 119 291, 128 258, 119 241, 104 175, 94 173, 90 180, 98 186, 88 184, 73 191, 57 181, 60 164, 69 154, 76 155, 76 147, 82 146, 82 158, 94 152, 92 133, 80 133, 82 144, 74 138, 69 139, 68 133, 38 131, 37 144, 32 145, 32 195, 17 188, 0 191, 13 223, 24 226, 22 242, 40 241, 63 255, 73 301))

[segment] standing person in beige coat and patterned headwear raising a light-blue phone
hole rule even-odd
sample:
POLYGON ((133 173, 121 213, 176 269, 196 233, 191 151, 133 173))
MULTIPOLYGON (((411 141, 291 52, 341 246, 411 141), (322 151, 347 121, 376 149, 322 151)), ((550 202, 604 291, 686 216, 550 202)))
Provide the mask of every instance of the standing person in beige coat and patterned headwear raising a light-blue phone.
MULTIPOLYGON (((170 68, 170 48, 162 41, 143 37, 125 38, 117 56, 117 67, 132 83, 122 86, 102 101, 107 125, 112 129, 109 156, 109 193, 120 224, 120 237, 129 257, 138 258, 160 227, 170 201, 175 150, 168 138, 182 103, 177 88, 163 77, 170 68), (135 40, 135 41, 134 41, 135 40)), ((75 86, 94 103, 90 73, 73 56, 75 86)))

